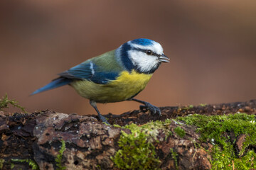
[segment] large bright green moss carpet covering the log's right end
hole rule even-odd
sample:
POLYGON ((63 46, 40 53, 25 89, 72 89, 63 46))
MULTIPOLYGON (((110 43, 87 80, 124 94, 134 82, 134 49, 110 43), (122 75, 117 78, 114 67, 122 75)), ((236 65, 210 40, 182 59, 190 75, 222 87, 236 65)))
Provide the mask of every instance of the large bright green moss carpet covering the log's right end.
POLYGON ((256 145, 256 123, 255 115, 245 113, 236 113, 234 115, 191 115, 178 120, 185 121, 188 125, 196 125, 197 132, 201 133, 202 142, 211 142, 213 148, 212 169, 256 169, 256 155, 249 145, 256 145), (235 137, 245 134, 245 142, 239 155, 245 156, 238 158, 235 154, 234 143, 230 142, 229 134, 233 133, 235 137), (252 160, 254 160, 252 162, 252 160))

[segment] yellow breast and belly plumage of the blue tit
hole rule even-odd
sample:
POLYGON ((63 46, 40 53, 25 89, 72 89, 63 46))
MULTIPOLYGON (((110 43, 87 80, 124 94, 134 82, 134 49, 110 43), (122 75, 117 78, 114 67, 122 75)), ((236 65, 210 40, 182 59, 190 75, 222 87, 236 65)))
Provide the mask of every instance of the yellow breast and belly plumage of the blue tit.
POLYGON ((79 80, 71 83, 71 86, 80 94, 98 103, 111 103, 125 101, 142 91, 151 79, 152 74, 143 74, 136 71, 131 73, 121 72, 117 79, 110 84, 95 84, 88 80, 79 80))

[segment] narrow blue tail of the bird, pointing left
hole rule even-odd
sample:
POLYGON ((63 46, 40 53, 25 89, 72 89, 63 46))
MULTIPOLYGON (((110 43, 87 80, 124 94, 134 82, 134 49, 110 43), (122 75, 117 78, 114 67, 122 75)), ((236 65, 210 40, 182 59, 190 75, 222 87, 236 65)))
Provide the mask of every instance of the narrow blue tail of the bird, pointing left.
POLYGON ((59 77, 58 79, 54 79, 53 81, 51 81, 51 82, 50 82, 49 84, 47 84, 46 86, 43 86, 42 88, 37 89, 37 90, 34 91, 31 95, 38 94, 38 93, 41 93, 41 92, 43 92, 43 91, 48 91, 48 90, 50 90, 50 89, 55 89, 55 88, 57 88, 57 87, 70 84, 71 81, 72 81, 72 79, 67 79, 67 78, 64 78, 64 77, 59 77))

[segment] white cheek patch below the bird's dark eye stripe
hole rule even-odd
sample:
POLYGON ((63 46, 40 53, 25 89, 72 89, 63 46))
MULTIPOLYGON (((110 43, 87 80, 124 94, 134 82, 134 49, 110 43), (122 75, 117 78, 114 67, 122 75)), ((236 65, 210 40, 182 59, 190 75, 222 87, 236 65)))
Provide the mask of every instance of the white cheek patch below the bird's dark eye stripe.
POLYGON ((142 72, 149 72, 151 69, 156 68, 159 63, 157 57, 146 55, 144 52, 137 50, 129 51, 129 57, 131 57, 132 64, 137 65, 142 72))

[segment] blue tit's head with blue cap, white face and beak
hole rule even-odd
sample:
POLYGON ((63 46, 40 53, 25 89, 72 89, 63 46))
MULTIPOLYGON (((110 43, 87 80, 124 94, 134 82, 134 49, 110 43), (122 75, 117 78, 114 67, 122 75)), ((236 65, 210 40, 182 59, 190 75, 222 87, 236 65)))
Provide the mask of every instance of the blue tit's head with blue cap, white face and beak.
POLYGON ((169 62, 159 42, 145 38, 128 41, 117 49, 117 57, 128 70, 151 74, 161 62, 169 62))

